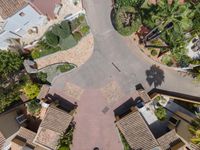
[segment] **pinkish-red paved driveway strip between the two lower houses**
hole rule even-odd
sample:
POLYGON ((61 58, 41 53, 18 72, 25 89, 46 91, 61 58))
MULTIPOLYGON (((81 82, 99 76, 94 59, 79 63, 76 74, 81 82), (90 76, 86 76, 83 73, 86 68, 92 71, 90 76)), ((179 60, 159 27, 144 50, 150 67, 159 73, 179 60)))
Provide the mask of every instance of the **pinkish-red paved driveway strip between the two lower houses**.
POLYGON ((100 91, 85 91, 78 106, 72 150, 123 150, 113 111, 100 91))

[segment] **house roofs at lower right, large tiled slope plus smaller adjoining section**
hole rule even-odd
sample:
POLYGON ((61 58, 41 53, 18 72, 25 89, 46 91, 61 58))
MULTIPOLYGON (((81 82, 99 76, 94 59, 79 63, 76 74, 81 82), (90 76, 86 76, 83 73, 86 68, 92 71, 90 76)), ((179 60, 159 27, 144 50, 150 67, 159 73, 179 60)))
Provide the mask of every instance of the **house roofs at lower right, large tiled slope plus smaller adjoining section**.
POLYGON ((188 146, 175 129, 156 139, 136 109, 117 120, 116 126, 132 149, 178 150, 188 146))

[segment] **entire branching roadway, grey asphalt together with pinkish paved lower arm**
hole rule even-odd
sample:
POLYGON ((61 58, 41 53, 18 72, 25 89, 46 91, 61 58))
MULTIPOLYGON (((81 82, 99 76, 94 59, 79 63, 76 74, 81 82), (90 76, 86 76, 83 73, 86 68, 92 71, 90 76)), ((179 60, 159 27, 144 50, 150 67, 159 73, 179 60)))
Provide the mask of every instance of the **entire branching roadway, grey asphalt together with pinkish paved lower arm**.
MULTIPOLYGON (((137 43, 121 37, 113 29, 110 21, 111 0, 83 0, 83 5, 94 35, 93 55, 81 67, 58 76, 52 83, 51 92, 70 101, 72 98, 69 98, 68 94, 78 98, 75 99, 78 102, 78 110, 75 115, 77 126, 73 150, 92 150, 95 146, 101 150, 122 150, 114 125, 113 109, 126 100, 126 96, 134 97, 132 94, 135 93, 135 85, 141 83, 148 91, 154 87, 146 80, 146 73, 151 74, 154 71, 147 71, 154 62, 140 52, 137 43), (113 86, 105 86, 112 83, 111 81, 114 81, 125 95, 120 97, 119 101, 110 102, 110 99, 106 99, 107 96, 102 94, 103 87, 106 87, 106 90, 111 89, 107 95, 119 92, 116 88, 112 91, 113 86), (79 88, 76 89, 79 89, 78 93, 82 95, 76 95, 74 91, 66 89, 66 83, 77 85, 79 88)), ((200 87, 193 84, 192 79, 181 77, 179 73, 166 67, 159 67, 162 71, 158 69, 154 75, 158 80, 164 81, 158 88, 200 96, 200 87)), ((114 97, 118 98, 116 95, 114 97)))

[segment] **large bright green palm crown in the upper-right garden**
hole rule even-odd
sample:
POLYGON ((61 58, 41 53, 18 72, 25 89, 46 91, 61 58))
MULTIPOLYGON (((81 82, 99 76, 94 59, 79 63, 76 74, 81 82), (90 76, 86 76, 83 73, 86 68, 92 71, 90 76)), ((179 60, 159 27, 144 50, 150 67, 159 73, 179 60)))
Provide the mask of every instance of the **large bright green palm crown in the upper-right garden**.
POLYGON ((155 23, 162 23, 161 29, 172 22, 175 31, 189 31, 193 26, 194 17, 194 11, 190 7, 189 3, 180 5, 178 0, 173 0, 171 4, 168 0, 160 0, 157 3, 157 13, 152 16, 152 20, 155 23))

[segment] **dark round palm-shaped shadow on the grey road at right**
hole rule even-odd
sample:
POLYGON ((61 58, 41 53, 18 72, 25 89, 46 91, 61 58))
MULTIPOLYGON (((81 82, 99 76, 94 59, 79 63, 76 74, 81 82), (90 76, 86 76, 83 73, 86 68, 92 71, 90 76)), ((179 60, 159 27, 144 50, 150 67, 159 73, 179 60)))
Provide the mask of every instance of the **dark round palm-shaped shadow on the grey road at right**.
POLYGON ((160 69, 159 66, 152 65, 149 70, 146 70, 146 80, 150 86, 161 86, 162 82, 164 82, 165 76, 164 71, 160 69))

